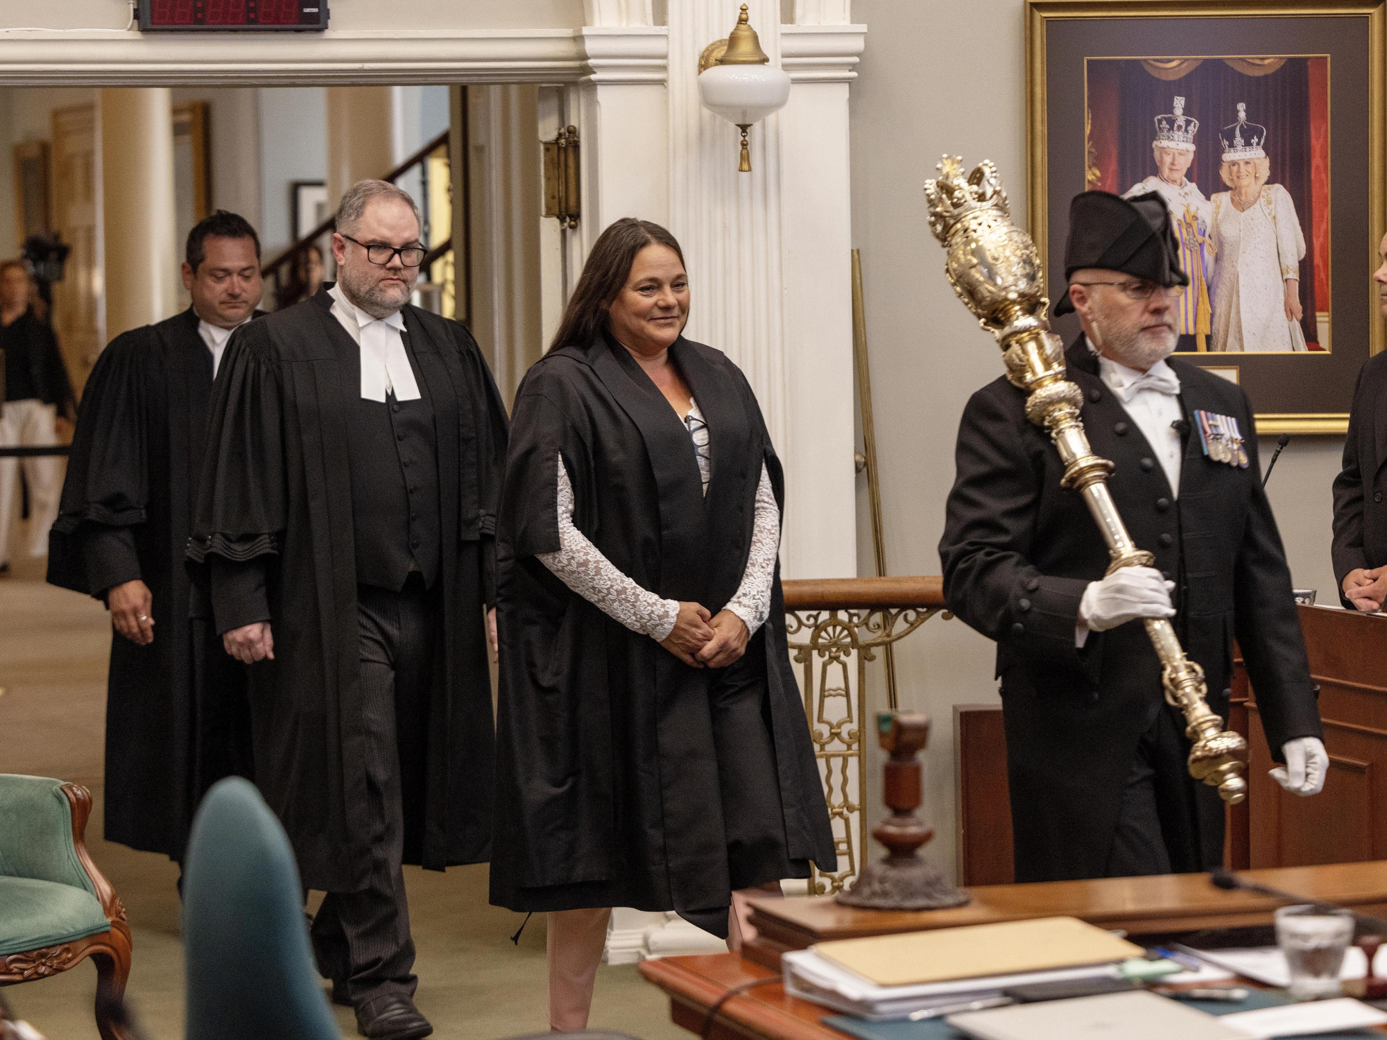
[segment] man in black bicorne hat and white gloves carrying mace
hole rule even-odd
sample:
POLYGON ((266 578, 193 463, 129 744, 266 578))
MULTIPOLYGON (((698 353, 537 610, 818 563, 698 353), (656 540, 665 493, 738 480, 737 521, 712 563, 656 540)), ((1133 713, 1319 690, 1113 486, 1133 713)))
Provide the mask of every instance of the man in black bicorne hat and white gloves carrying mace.
POLYGON ((1078 313, 1068 379, 1151 567, 1107 574, 1103 535, 1026 419, 1025 391, 993 381, 958 428, 939 542, 945 600, 997 643, 1021 882, 1222 863, 1223 806, 1187 772, 1184 721, 1165 703, 1144 618, 1172 620, 1225 720, 1237 641, 1283 788, 1315 795, 1329 767, 1247 395, 1168 361, 1189 281, 1178 250, 1160 194, 1086 191, 1069 209, 1069 284, 1056 306, 1078 313), (1240 431, 1246 455, 1204 451, 1200 423, 1211 417, 1240 431))

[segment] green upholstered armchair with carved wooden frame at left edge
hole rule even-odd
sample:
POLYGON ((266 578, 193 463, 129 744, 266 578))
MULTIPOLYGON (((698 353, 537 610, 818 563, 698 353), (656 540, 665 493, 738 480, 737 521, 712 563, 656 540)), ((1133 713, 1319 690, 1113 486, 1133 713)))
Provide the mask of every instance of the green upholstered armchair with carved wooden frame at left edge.
POLYGON ((0 774, 0 986, 44 979, 92 958, 101 1040, 130 978, 125 907, 86 850, 92 793, 46 777, 0 774))

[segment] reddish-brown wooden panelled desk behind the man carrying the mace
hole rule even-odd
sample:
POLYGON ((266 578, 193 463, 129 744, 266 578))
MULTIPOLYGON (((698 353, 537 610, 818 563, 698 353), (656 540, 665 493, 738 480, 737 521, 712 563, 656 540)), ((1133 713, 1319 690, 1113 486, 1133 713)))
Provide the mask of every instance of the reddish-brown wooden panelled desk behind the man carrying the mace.
MULTIPOLYGON (((1387 616, 1300 607, 1329 750, 1325 790, 1287 795, 1266 775, 1270 753, 1241 657, 1229 727, 1251 749, 1248 797, 1229 810, 1229 867, 1307 867, 1387 856, 1387 616)), ((954 710, 958 883, 1011 881, 1011 811, 1001 709, 954 710)))

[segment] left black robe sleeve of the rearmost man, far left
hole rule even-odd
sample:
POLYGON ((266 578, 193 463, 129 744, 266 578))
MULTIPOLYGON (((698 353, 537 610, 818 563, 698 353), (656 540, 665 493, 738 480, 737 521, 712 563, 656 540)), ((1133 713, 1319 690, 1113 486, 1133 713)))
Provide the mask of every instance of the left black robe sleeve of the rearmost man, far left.
POLYGON ((132 528, 146 523, 148 465, 144 395, 150 336, 136 329, 101 352, 82 395, 49 534, 49 581, 103 596, 140 574, 132 528))

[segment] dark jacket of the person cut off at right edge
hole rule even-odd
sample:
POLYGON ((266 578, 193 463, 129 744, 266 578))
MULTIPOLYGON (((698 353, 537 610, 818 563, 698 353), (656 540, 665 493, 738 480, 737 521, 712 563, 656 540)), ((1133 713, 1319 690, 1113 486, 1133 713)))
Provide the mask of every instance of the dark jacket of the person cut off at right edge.
POLYGON ((1354 406, 1348 413, 1344 467, 1334 477, 1334 593, 1345 607, 1348 571, 1387 563, 1387 502, 1383 501, 1383 463, 1387 463, 1387 354, 1369 358, 1358 370, 1354 406))

